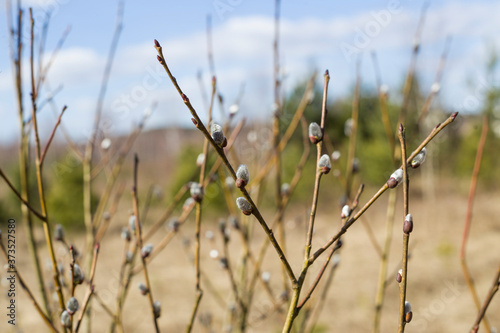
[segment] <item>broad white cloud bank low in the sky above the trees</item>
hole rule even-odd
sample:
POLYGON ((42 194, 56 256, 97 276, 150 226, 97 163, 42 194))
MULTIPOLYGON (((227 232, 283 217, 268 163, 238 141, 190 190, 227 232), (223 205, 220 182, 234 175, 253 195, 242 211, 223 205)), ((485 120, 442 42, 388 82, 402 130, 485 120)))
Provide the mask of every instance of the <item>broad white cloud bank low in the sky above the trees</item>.
MULTIPOLYGON (((37 2, 40 3, 40 2, 37 2)), ((424 81, 432 83, 445 37, 454 36, 444 83, 453 84, 452 89, 443 85, 445 100, 453 100, 467 89, 464 73, 477 73, 484 68, 485 40, 500 45, 500 21, 494 15, 500 12, 498 3, 448 2, 442 6, 433 4, 427 14, 422 53, 418 62, 424 81)), ((364 47, 363 53, 377 50, 384 80, 397 87, 406 70, 418 22, 418 11, 393 14, 388 24, 381 26, 364 47)), ((281 65, 289 77, 287 87, 303 80, 312 67, 320 71, 328 68, 332 73, 331 84, 334 96, 349 91, 354 79, 354 64, 349 63, 340 48, 342 43, 356 46, 359 34, 366 33, 370 22, 377 22, 370 12, 361 12, 350 17, 328 19, 304 18, 281 22, 281 65)), ((240 86, 245 83, 245 116, 267 116, 272 101, 272 17, 231 16, 213 30, 214 57, 219 87, 229 106, 236 98, 240 86)), ((194 105, 202 109, 198 70, 203 69, 206 90, 209 91, 205 32, 164 39, 165 57, 184 91, 194 105)), ((365 62, 369 62, 365 56, 365 62)), ((73 116, 68 115, 67 126, 88 126, 95 108, 95 98, 100 85, 106 55, 88 48, 68 48, 60 52, 51 70, 49 79, 53 86, 64 85, 58 101, 68 104, 73 116), (78 116, 77 116, 78 114, 78 116), (75 118, 71 118, 75 117, 75 118)), ((373 82, 373 69, 363 67, 363 81, 373 82)), ((11 85, 10 73, 0 75, 0 96, 6 96, 11 85)), ((114 63, 107 95, 106 111, 113 115, 117 110, 127 110, 128 116, 120 118, 129 128, 130 122, 139 118, 140 112, 153 100, 159 108, 153 116, 155 125, 188 123, 190 116, 176 96, 170 80, 156 60, 153 41, 121 46, 114 63), (128 100, 124 99, 128 96, 128 100), (132 98, 132 99, 130 99, 132 98), (128 103, 128 104, 127 104, 128 103), (126 108, 124 108, 126 106, 126 108)), ((80 129, 79 129, 80 130, 80 129)), ((80 130, 81 131, 81 130, 80 130)))

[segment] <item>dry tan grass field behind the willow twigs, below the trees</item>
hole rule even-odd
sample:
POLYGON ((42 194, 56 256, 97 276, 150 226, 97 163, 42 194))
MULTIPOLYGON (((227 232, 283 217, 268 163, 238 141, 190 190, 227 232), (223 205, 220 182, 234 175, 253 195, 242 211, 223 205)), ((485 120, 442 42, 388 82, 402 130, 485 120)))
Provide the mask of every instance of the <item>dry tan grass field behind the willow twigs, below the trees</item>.
MULTIPOLYGON (((416 181, 418 183, 418 180, 416 181)), ((418 185, 417 185, 418 186, 418 185)), ((423 195, 414 191, 410 197, 410 212, 415 221, 415 228, 410 238, 411 260, 409 262, 408 300, 412 303, 413 321, 406 326, 406 332, 467 332, 470 329, 476 310, 467 286, 464 282, 459 262, 459 249, 462 237, 463 221, 466 209, 467 185, 458 182, 447 182, 437 187, 434 195, 423 195)), ((400 191, 401 188, 398 188, 400 191)), ((361 198, 363 203, 373 189, 367 189, 361 198)), ((402 202, 398 198, 396 222, 393 234, 393 243, 389 259, 389 272, 396 272, 401 260, 402 244, 402 202)), ((95 278, 96 292, 99 297, 115 308, 115 295, 118 286, 118 274, 123 255, 123 241, 119 237, 121 226, 126 223, 127 205, 130 200, 125 195, 122 205, 123 213, 115 218, 101 244, 100 257, 97 264, 95 278)), ((314 236, 313 250, 324 242, 338 228, 338 209, 325 214, 328 209, 327 201, 323 198, 319 206, 319 217, 314 236)), ((337 198, 332 199, 337 202, 337 198)), ((382 243, 385 234, 385 206, 387 195, 384 195, 365 215, 365 222, 371 225, 379 243, 382 243)), ((473 274, 481 301, 490 287, 493 275, 499 264, 500 253, 500 220, 498 219, 498 203, 500 194, 479 193, 476 197, 473 224, 468 244, 468 264, 473 274)), ((302 265, 302 249, 306 233, 306 217, 310 203, 304 202, 294 205, 286 215, 287 250, 294 271, 299 271, 302 265)), ((330 205, 331 206, 331 205, 330 205)), ((159 212, 151 212, 151 216, 159 212)), ((265 217, 272 216, 272 212, 265 212, 265 217)), ((201 267, 206 279, 202 279, 204 297, 201 301, 199 315, 212 316, 212 332, 224 332, 229 313, 229 304, 233 301, 229 278, 218 261, 209 257, 211 249, 222 252, 222 241, 217 230, 216 218, 206 218, 203 221, 202 233, 212 230, 216 235, 214 241, 203 237, 201 267), (207 279, 213 285, 215 292, 221 297, 216 300, 214 293, 207 284, 207 279), (224 304, 221 304, 224 302, 224 304)), ((255 221, 251 217, 251 221, 255 221)), ((370 332, 372 331, 374 298, 379 270, 379 256, 369 241, 362 221, 357 221, 344 237, 344 246, 340 251, 341 259, 329 289, 327 301, 321 311, 319 325, 324 332, 370 332)), ((162 316, 159 323, 162 331, 182 332, 192 311, 195 298, 195 274, 190 261, 192 246, 186 251, 183 239, 193 239, 193 217, 182 226, 179 234, 167 248, 149 265, 153 295, 162 303, 162 316)), ((147 229, 147 225, 145 227, 147 229)), ((155 244, 165 234, 161 229, 152 240, 155 244)), ((35 287, 35 278, 26 242, 23 237, 22 226, 17 229, 17 263, 19 271, 28 281, 35 294, 39 297, 35 287)), ((42 244, 41 229, 37 229, 37 236, 42 246, 42 261, 46 271, 46 281, 49 281, 50 262, 46 248, 42 244)), ((255 222, 252 251, 255 253, 260 247, 264 233, 255 222)), ((83 248, 84 235, 69 234, 67 238, 83 248)), ((237 270, 241 254, 239 236, 231 230, 231 263, 237 270)), ((56 251, 60 260, 68 262, 68 255, 60 243, 56 244, 56 251)), ((315 276, 322 260, 315 263, 309 273, 309 279, 315 276)), ((263 265, 263 269, 271 272, 271 286, 276 299, 281 293, 282 276, 280 261, 272 248, 263 265)), ((2 273, 3 276, 4 273, 2 273)), ((66 273, 67 274, 67 273, 66 273)), ((389 285, 382 316, 381 332, 395 332, 397 330, 397 313, 399 291, 395 283, 394 273, 389 273, 389 285)), ((306 282, 306 288, 310 283, 306 282)), ((2 282, 5 279, 2 279, 2 282)), ((152 332, 152 320, 147 299, 141 296, 137 284, 143 281, 143 275, 138 274, 132 282, 125 309, 124 326, 126 332, 152 332)), ((323 281, 324 282, 324 281, 323 281)), ((35 313, 32 304, 26 297, 20 285, 16 286, 17 300, 17 327, 7 324, 5 314, 0 321, 0 332, 42 332, 45 327, 35 313)), ((6 311, 6 286, 2 286, 1 308, 6 311)), ((83 298, 85 288, 77 289, 79 299, 83 298)), ((257 285, 257 295, 250 314, 250 328, 248 332, 280 332, 284 321, 284 312, 272 310, 269 297, 257 285), (269 314, 261 318, 261 314, 269 314)), ((311 304, 315 304, 322 285, 311 304)), ((109 330, 110 317, 96 302, 93 332, 109 330)), ((286 306, 283 307, 286 311, 286 306)), ((493 300, 488 309, 488 320, 492 327, 500 328, 500 298, 493 300)), ((298 326, 298 325, 297 325, 298 326)), ((209 332, 200 321, 195 324, 195 332, 209 332)), ((480 332, 484 332, 481 328, 480 332)))

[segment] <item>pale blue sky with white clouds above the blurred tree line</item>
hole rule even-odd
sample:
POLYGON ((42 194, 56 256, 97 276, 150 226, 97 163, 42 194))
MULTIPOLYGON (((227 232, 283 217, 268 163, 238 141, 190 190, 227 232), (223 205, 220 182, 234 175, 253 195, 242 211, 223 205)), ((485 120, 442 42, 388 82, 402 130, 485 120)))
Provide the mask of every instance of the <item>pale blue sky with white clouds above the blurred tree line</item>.
MULTIPOLYGON (((420 0, 282 0, 281 64, 286 74, 285 88, 303 80, 312 69, 320 72, 329 69, 331 98, 350 93, 355 61, 349 50, 362 54, 362 80, 366 86, 373 87, 375 79, 369 53, 375 50, 383 82, 389 91, 396 91, 409 63, 423 3, 420 0)), ((38 21, 47 11, 52 12, 47 43, 49 54, 64 29, 71 26, 49 73, 46 88, 50 89, 43 90, 40 98, 44 100, 51 91, 60 89, 56 103, 59 107, 68 105, 63 123, 77 139, 85 138, 92 124, 117 4, 117 1, 95 0, 23 2, 25 7, 33 6, 38 21)), ((5 5, 2 6, 0 143, 15 140, 18 133, 6 11, 5 5)), ((430 3, 417 64, 424 91, 433 83, 446 37, 451 35, 453 38, 439 103, 458 111, 473 111, 481 104, 478 92, 482 87, 498 85, 497 81, 488 82, 484 74, 488 47, 500 49, 498 13, 498 1, 430 3)), ((209 14, 213 22, 219 89, 226 106, 236 100, 244 84, 240 116, 264 118, 270 115, 274 1, 129 0, 125 2, 124 29, 105 103, 105 117, 112 124, 107 128, 110 134, 130 129, 154 101, 158 102, 158 107, 149 120, 150 127, 190 123, 187 110, 156 61, 155 38, 164 47, 167 62, 179 83, 203 113, 196 74, 202 71, 208 90, 205 29, 209 14)), ((26 88, 28 92, 28 86, 26 88)), ((29 105, 28 100, 26 105, 29 105)), ((40 114, 42 135, 50 133, 54 122, 50 108, 43 109, 40 114)))

